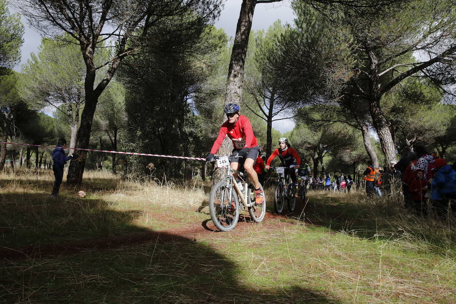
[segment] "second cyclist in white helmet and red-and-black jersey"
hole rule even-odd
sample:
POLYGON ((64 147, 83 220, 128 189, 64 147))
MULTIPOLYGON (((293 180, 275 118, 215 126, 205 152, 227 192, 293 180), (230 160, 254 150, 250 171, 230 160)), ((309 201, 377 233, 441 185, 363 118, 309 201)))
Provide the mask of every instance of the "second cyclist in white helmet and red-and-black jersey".
POLYGON ((296 192, 296 173, 294 170, 299 168, 299 165, 297 164, 301 163, 301 158, 297 154, 296 150, 290 146, 288 139, 285 137, 279 138, 279 148, 275 149, 269 157, 266 162, 266 169, 271 167, 271 162, 277 156, 280 158, 282 166, 285 167, 285 178, 288 174, 290 175, 291 181, 293 182, 293 191, 296 192))

